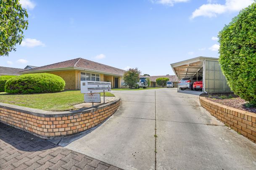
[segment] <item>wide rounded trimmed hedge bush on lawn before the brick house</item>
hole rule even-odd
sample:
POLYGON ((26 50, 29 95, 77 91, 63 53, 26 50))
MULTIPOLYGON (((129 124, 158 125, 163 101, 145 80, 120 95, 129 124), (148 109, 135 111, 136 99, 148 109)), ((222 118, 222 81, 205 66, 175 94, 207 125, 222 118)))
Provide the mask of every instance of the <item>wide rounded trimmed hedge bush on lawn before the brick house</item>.
POLYGON ((5 92, 19 94, 59 92, 64 90, 64 86, 65 81, 54 74, 24 74, 6 81, 5 92))

